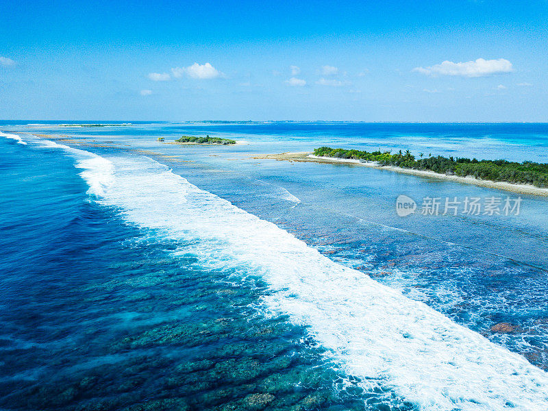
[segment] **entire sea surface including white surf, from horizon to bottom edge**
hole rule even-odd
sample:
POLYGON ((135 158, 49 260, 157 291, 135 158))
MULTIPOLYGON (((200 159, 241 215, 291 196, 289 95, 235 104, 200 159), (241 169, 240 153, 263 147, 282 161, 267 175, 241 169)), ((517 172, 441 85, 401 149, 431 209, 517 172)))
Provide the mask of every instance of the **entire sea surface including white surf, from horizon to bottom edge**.
POLYGON ((405 145, 539 161, 547 125, 25 124, 1 128, 27 145, 0 140, 0 408, 548 403, 546 199, 522 196, 519 216, 401 219, 399 194, 508 193, 251 158, 405 145), (155 141, 179 134, 247 144, 155 141))

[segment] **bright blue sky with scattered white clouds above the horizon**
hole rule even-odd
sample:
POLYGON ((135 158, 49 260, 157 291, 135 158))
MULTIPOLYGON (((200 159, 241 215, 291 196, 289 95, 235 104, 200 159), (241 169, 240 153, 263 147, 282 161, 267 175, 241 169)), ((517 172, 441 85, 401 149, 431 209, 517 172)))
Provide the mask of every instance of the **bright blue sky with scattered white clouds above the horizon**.
POLYGON ((548 0, 82 3, 0 2, 0 119, 548 121, 548 0))

